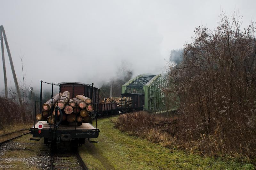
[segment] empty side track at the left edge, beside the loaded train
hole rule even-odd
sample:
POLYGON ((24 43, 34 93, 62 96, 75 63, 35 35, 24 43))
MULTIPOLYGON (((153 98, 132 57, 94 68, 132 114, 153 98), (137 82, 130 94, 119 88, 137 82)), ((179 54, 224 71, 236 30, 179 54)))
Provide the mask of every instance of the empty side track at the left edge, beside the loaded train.
POLYGON ((0 135, 0 145, 5 144, 13 139, 16 139, 18 137, 26 135, 28 133, 30 133, 30 131, 28 131, 28 129, 20 129, 20 130, 14 131, 14 132, 0 135))

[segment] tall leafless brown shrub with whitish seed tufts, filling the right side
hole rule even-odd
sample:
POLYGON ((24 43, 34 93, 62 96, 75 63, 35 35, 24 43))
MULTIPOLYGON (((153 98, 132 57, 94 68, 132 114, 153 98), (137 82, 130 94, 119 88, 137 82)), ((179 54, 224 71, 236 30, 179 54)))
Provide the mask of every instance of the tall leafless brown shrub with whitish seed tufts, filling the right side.
POLYGON ((203 154, 256 154, 256 39, 254 23, 241 30, 241 19, 220 15, 219 26, 199 26, 184 46, 183 61, 171 68, 181 97, 180 127, 185 143, 203 154))

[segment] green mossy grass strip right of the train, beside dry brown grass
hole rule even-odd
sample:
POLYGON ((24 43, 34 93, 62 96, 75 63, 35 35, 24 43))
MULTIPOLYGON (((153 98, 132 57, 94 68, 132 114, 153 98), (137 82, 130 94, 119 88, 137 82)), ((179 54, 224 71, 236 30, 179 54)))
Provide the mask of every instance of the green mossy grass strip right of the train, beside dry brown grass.
POLYGON ((228 158, 202 157, 129 136, 114 128, 108 118, 98 119, 97 128, 100 129, 100 135, 93 140, 100 143, 88 143, 79 147, 90 170, 254 169, 252 164, 228 158))

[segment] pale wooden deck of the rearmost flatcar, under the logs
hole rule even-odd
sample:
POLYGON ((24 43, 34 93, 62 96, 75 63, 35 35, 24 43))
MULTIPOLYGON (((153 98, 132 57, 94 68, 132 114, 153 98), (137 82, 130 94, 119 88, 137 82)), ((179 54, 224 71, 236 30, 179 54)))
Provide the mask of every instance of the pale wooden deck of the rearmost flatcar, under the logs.
MULTIPOLYGON (((36 123, 36 129, 38 128, 38 125, 41 123, 43 124, 44 129, 50 129, 51 125, 48 124, 47 121, 38 121, 36 123)), ((34 128, 34 126, 32 128, 34 128)), ((53 128, 53 125, 52 125, 52 128, 53 128)), ((69 123, 69 125, 59 125, 58 129, 62 129, 62 130, 75 129, 75 123, 71 122, 71 123, 69 123)), ((76 125, 76 130, 85 130, 85 129, 92 130, 92 129, 96 129, 96 128, 94 126, 92 126, 90 123, 82 123, 82 125, 76 125)))

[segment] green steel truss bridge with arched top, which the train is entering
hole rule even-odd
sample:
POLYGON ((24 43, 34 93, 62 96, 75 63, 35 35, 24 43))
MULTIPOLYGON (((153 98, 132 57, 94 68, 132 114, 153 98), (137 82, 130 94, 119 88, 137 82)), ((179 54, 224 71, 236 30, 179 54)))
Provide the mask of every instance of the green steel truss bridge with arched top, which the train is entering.
POLYGON ((173 79, 163 74, 141 74, 122 85, 122 93, 145 94, 144 110, 156 113, 174 111, 178 109, 180 98, 164 92, 164 89, 168 89, 173 83, 173 79))

